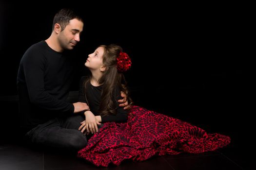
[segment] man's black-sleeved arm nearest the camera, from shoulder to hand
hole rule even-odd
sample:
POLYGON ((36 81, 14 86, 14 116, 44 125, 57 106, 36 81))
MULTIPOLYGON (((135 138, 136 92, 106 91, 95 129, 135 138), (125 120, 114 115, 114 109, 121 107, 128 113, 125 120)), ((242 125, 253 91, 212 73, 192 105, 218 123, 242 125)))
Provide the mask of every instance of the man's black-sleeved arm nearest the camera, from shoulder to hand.
POLYGON ((68 113, 74 113, 74 111, 79 112, 79 110, 82 111, 87 108, 82 108, 84 104, 72 104, 59 100, 49 94, 44 88, 44 58, 43 56, 36 56, 42 54, 38 54, 35 51, 29 51, 26 55, 28 56, 23 59, 22 67, 29 99, 32 103, 43 109, 68 113))

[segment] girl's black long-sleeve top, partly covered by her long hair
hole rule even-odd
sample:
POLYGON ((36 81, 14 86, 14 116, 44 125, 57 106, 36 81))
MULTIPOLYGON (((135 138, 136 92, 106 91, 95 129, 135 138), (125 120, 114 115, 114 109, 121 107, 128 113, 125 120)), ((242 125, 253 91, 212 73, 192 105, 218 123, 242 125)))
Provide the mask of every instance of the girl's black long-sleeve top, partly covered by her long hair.
MULTIPOLYGON (((91 112, 98 116, 99 104, 101 101, 101 90, 102 85, 100 86, 93 86, 89 84, 87 86, 86 91, 84 91, 83 82, 86 80, 86 77, 82 77, 80 80, 80 88, 79 88, 79 102, 86 102, 86 98, 88 101, 88 105, 90 107, 91 112), (86 95, 86 98, 85 98, 86 95)), ((108 116, 101 116, 101 122, 108 122, 108 121, 115 121, 115 122, 125 122, 127 121, 127 111, 120 107, 118 104, 118 100, 122 99, 121 93, 119 89, 115 89, 114 95, 116 96, 116 104, 117 104, 117 114, 116 115, 108 115, 108 116)))

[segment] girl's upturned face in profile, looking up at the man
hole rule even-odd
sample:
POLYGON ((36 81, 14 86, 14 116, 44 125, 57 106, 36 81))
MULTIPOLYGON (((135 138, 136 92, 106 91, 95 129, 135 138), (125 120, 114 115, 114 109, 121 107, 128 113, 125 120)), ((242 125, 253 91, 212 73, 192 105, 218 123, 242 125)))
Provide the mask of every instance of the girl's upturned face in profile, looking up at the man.
POLYGON ((86 60, 86 63, 84 64, 87 68, 90 70, 99 70, 101 71, 101 68, 103 68, 102 63, 102 56, 104 53, 103 47, 98 47, 93 53, 88 55, 88 58, 86 60))

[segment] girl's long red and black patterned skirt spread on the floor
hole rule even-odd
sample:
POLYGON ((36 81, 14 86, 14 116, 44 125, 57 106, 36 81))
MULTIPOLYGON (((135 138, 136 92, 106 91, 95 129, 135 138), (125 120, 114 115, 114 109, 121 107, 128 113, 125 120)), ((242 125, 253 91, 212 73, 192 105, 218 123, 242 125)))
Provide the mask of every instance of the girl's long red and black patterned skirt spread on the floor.
POLYGON ((207 134, 185 121, 133 106, 126 123, 104 123, 78 157, 107 167, 125 159, 142 161, 154 155, 214 151, 229 143, 229 136, 207 134))

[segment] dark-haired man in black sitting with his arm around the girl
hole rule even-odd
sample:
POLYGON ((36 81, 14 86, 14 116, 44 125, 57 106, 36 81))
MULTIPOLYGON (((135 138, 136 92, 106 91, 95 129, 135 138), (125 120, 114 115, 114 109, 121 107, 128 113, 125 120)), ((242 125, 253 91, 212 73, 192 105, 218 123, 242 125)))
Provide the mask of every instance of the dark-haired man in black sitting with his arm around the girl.
MULTIPOLYGON (((66 102, 74 75, 70 50, 80 41, 83 20, 70 9, 54 17, 52 34, 32 45, 23 55, 17 86, 21 126, 35 144, 77 151, 87 144, 78 129, 86 103, 66 102)), ((126 96, 122 105, 127 106, 126 96)))

